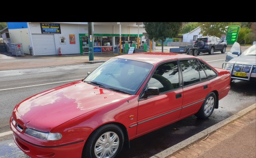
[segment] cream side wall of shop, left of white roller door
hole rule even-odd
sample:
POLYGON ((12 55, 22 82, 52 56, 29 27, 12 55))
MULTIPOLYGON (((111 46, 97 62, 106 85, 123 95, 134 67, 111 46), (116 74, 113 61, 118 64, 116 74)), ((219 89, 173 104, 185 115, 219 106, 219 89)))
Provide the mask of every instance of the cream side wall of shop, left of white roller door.
POLYGON ((9 29, 9 35, 11 39, 11 43, 21 43, 23 48, 23 53, 29 54, 29 44, 30 38, 28 34, 28 28, 20 28, 20 29, 9 29))

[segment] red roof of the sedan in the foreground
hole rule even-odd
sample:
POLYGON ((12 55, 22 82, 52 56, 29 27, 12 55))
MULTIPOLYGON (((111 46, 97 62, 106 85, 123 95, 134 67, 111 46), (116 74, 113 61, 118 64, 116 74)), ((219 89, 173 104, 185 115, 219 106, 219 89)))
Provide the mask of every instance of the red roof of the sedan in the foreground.
POLYGON ((179 53, 132 53, 132 54, 126 54, 126 55, 119 55, 114 58, 142 61, 142 62, 154 64, 154 65, 156 65, 159 62, 169 61, 169 60, 187 59, 187 58, 200 59, 192 55, 179 54, 179 53))

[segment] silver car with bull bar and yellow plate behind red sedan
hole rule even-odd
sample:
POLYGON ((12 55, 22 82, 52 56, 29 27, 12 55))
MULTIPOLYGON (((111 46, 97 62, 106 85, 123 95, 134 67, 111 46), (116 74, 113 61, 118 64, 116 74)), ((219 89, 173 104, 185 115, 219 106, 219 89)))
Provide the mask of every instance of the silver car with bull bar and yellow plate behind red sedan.
POLYGON ((241 53, 240 44, 235 42, 227 53, 222 68, 229 70, 231 80, 256 81, 256 44, 241 53))

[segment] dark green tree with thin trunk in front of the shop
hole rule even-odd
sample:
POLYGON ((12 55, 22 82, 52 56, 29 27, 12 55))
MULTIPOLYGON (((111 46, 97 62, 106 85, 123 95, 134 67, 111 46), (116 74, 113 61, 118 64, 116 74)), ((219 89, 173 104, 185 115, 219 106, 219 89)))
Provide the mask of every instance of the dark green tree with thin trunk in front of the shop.
POLYGON ((149 39, 162 40, 162 53, 166 38, 174 38, 182 28, 182 22, 146 22, 143 23, 149 39))

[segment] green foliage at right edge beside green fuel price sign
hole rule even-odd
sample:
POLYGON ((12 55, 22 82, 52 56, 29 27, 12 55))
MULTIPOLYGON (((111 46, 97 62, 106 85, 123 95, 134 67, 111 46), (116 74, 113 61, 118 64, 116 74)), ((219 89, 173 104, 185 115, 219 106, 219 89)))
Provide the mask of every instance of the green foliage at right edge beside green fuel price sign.
POLYGON ((239 29, 238 40, 239 44, 252 44, 255 41, 256 35, 252 33, 252 30, 248 27, 242 27, 239 29))

